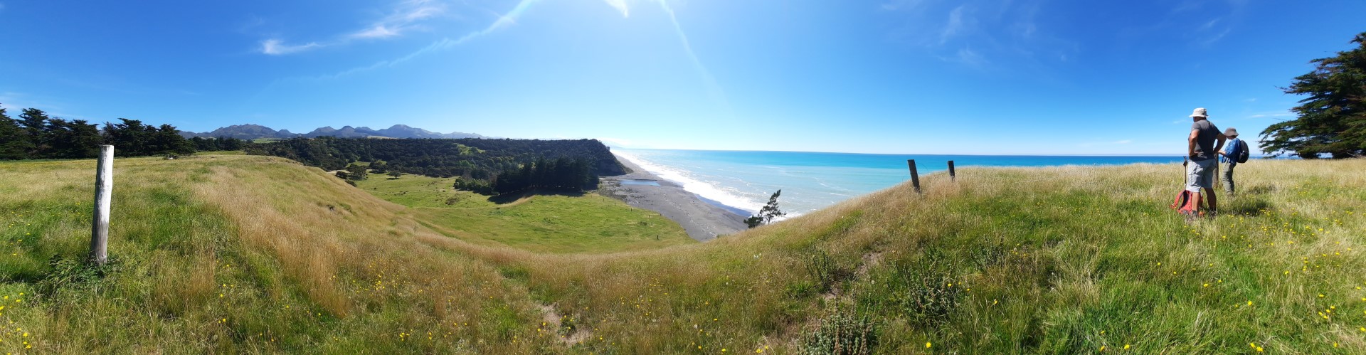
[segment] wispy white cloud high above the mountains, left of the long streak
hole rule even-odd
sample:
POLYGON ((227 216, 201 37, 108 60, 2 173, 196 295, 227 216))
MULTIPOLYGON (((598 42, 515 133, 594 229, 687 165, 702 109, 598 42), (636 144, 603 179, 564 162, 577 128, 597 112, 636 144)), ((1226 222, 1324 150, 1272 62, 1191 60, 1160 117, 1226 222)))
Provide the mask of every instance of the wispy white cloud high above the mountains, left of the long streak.
POLYGON ((419 22, 441 15, 445 12, 445 5, 434 0, 407 0, 398 3, 393 10, 389 11, 384 18, 366 25, 359 30, 354 30, 342 36, 335 36, 332 40, 326 41, 311 41, 307 44, 296 45, 287 44, 280 38, 268 38, 261 41, 261 53, 279 56, 298 53, 311 49, 318 49, 324 46, 346 45, 357 40, 384 40, 403 36, 406 31, 421 29, 419 22))

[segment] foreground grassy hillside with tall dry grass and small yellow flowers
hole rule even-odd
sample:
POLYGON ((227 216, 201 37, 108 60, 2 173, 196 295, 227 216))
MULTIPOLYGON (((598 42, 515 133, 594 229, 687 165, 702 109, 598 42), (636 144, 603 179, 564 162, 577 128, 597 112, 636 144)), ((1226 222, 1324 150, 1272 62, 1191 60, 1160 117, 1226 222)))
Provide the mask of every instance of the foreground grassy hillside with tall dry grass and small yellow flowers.
POLYGON ((612 254, 474 240, 279 158, 116 164, 94 269, 93 161, 0 162, 4 351, 1366 352, 1359 160, 1246 164, 1193 224, 1173 165, 962 168, 612 254))

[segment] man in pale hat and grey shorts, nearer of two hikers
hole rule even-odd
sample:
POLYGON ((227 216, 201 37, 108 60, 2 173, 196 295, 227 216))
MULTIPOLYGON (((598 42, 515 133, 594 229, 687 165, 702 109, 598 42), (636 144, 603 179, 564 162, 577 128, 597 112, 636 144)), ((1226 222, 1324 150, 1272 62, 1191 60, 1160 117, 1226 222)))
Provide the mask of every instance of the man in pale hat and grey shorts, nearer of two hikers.
POLYGON ((1186 191, 1191 191, 1191 198, 1197 201, 1201 199, 1201 190, 1209 195, 1209 210, 1210 216, 1218 212, 1218 199, 1214 197, 1214 165, 1218 162, 1217 152, 1224 147, 1224 141, 1228 139, 1223 132, 1218 132, 1218 127, 1209 123, 1209 115, 1205 113, 1205 108, 1197 108, 1191 113, 1191 134, 1186 139, 1186 153, 1191 162, 1186 165, 1186 191), (1216 145, 1214 141, 1218 141, 1216 145))

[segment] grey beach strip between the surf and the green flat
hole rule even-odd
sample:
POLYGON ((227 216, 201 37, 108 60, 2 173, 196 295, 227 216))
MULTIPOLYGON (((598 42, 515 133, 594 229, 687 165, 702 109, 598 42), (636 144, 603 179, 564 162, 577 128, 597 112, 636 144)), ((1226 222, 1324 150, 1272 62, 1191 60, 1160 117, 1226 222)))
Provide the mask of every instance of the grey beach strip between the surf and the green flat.
POLYGON ((601 194, 626 201, 631 206, 658 212, 683 225, 688 236, 701 242, 744 231, 746 216, 708 203, 697 194, 683 190, 683 186, 660 179, 628 160, 617 157, 617 161, 631 169, 631 173, 602 176, 601 194), (627 184, 623 184, 623 180, 627 184), (650 184, 652 182, 658 186, 650 184))

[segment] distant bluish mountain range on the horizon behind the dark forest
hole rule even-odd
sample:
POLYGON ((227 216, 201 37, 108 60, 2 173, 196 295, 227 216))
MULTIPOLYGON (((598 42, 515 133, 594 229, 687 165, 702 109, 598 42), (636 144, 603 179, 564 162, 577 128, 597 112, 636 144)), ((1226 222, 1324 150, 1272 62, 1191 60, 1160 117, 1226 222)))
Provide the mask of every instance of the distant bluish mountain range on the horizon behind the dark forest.
POLYGON ((316 138, 316 137, 337 137, 337 138, 488 138, 478 134, 467 132, 433 132, 422 128, 414 128, 403 124, 393 124, 393 127, 384 130, 372 130, 370 127, 351 127, 344 126, 340 130, 332 128, 332 126, 313 130, 307 134, 296 134, 290 130, 270 130, 270 127, 260 124, 236 124, 221 127, 210 132, 191 132, 180 131, 184 138, 204 137, 229 137, 238 139, 257 139, 257 138, 316 138))

